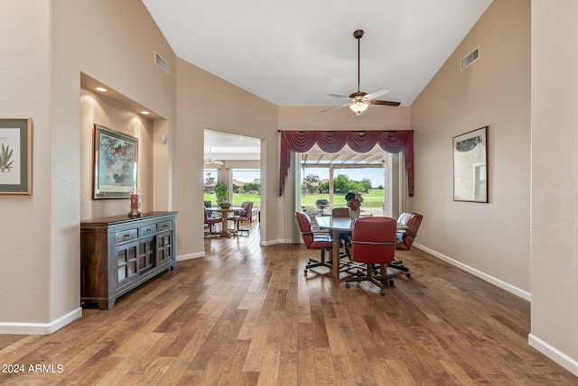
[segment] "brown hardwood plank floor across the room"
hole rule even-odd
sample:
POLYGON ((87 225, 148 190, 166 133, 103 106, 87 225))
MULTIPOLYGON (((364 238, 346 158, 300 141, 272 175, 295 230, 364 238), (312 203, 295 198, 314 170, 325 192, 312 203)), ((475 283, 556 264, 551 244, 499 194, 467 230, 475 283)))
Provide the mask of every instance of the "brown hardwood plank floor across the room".
POLYGON ((205 251, 54 334, 0 335, 3 370, 24 367, 0 384, 578 384, 527 344, 527 301, 415 248, 385 297, 304 277, 318 253, 260 246, 258 223, 205 251))

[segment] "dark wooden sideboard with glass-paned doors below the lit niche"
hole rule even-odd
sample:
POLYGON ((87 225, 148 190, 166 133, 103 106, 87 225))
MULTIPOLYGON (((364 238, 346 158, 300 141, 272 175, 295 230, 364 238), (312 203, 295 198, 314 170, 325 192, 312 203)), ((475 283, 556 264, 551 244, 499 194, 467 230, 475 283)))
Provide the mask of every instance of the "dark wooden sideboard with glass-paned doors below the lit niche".
POLYGON ((176 268, 176 212, 80 223, 80 301, 111 309, 121 295, 176 268))

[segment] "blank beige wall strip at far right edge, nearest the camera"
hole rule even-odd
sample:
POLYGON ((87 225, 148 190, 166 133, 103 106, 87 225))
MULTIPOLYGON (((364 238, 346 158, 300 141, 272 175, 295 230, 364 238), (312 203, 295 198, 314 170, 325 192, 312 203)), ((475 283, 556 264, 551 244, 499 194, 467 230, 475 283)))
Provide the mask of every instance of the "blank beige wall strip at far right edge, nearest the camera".
POLYGON ((578 375, 578 3, 532 1, 532 333, 578 375))

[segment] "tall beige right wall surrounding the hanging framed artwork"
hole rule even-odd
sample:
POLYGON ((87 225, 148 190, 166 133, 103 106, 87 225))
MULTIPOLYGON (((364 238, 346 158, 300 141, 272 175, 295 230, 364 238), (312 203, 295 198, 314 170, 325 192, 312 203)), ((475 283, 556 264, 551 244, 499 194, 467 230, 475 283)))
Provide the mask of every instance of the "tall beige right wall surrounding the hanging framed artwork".
POLYGON ((426 251, 529 299, 530 5, 494 1, 411 106, 426 251), (461 58, 480 59, 461 71, 461 58), (488 125, 489 203, 453 201, 452 137, 488 125))

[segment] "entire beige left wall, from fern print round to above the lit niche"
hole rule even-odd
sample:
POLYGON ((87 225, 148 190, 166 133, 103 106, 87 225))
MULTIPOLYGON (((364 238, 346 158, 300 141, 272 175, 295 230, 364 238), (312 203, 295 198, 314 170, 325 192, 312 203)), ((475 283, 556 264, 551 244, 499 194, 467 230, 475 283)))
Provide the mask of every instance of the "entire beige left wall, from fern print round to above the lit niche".
POLYGON ((0 332, 46 333, 80 316, 80 73, 171 120, 175 80, 154 64, 154 51, 172 67, 174 54, 138 0, 26 0, 3 11, 0 114, 33 117, 33 196, 0 201, 11 219, 0 225, 10 234, 1 247, 0 332))

